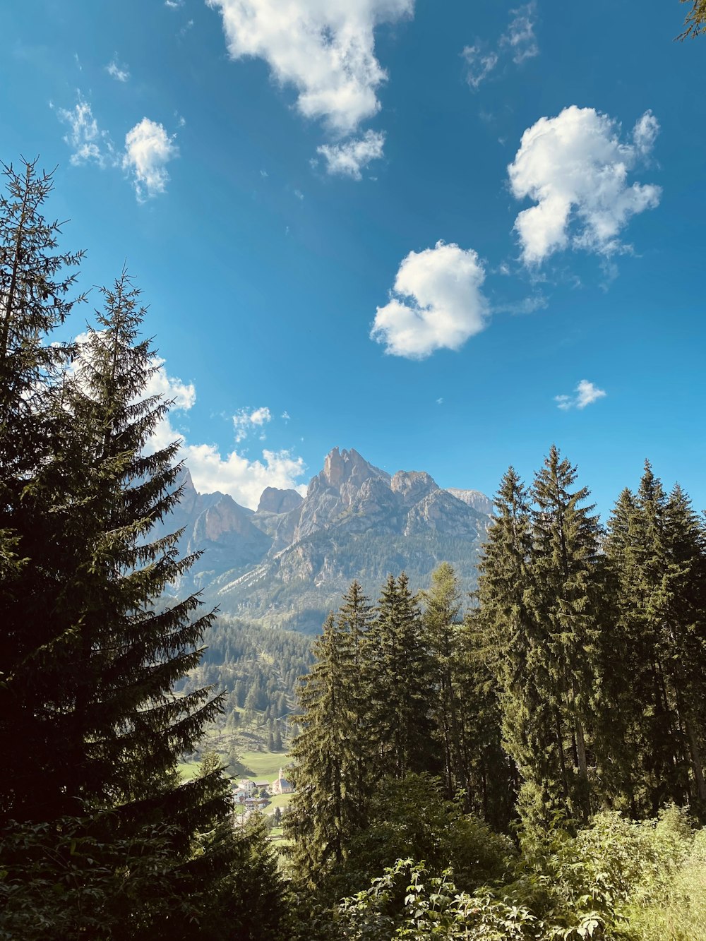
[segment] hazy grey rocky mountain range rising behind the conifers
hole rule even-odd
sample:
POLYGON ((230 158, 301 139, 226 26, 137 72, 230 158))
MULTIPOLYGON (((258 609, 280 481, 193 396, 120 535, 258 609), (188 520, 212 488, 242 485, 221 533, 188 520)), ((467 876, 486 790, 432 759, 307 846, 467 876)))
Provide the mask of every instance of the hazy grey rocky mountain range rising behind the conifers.
POLYGON ((492 511, 477 490, 442 489, 424 470, 391 476, 352 449, 327 455, 305 497, 268 486, 254 511, 198 493, 186 469, 181 483, 160 530, 183 529, 180 550, 201 555, 174 592, 201 590, 223 613, 294 630, 319 630, 354 578, 376 600, 388 573, 422 589, 447 561, 473 589, 492 511))

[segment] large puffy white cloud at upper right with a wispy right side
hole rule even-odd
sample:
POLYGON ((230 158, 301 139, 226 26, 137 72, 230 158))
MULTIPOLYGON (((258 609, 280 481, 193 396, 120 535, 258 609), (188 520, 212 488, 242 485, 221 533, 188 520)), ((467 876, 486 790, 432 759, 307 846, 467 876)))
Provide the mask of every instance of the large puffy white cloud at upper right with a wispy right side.
POLYGON ((628 185, 628 171, 650 152, 658 129, 648 111, 632 142, 621 143, 617 121, 575 104, 527 128, 507 167, 513 195, 537 202, 515 220, 523 262, 541 263, 569 246, 604 256, 629 250, 620 232, 631 216, 658 204, 661 189, 628 185))

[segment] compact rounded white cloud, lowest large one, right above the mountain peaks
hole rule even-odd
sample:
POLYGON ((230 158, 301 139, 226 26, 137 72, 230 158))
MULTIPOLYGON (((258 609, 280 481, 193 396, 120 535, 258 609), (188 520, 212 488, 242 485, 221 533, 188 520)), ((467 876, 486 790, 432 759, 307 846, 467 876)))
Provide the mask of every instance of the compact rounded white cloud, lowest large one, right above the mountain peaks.
POLYGON ((480 291, 485 271, 473 249, 437 242, 410 251, 394 279, 393 296, 378 307, 370 336, 385 352, 424 359, 438 349, 457 350, 486 325, 488 302, 480 291))

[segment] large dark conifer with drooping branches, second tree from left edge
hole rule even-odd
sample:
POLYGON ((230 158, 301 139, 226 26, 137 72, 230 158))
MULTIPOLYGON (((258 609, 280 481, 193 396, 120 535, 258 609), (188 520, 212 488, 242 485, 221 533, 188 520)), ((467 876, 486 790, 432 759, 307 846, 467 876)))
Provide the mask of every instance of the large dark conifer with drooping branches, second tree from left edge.
MULTIPOLYGON (((34 777, 32 787, 22 776, 13 785, 16 817, 52 819, 75 813, 77 802, 120 806, 171 791, 179 755, 218 710, 207 690, 171 692, 199 662, 212 615, 192 620, 195 597, 153 607, 191 559, 177 559, 176 535, 149 541, 154 520, 178 499, 177 445, 145 451, 168 404, 141 398, 155 366, 149 342, 136 341, 137 296, 124 274, 104 292, 103 329, 89 329, 62 383, 56 456, 25 486, 53 538, 44 546, 25 535, 43 582, 8 612, 18 630, 41 638, 24 655, 32 678, 11 675, 34 777)), ((180 789, 177 801, 174 791, 172 801, 187 806, 187 794, 180 789)))

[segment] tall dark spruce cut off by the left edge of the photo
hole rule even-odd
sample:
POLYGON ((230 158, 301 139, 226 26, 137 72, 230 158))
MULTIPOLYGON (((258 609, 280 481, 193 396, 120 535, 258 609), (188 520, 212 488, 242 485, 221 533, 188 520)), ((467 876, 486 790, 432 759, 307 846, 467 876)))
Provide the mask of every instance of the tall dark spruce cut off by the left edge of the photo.
MULTIPOLYGON (((0 821, 13 814, 38 781, 35 749, 46 751, 49 727, 39 729, 24 701, 47 692, 34 686, 40 662, 51 664, 51 630, 41 598, 53 590, 43 556, 56 545, 56 495, 33 493, 36 476, 53 459, 56 379, 71 347, 50 343, 81 297, 72 298, 82 252, 57 250, 60 228, 42 215, 51 174, 37 162, 4 167, 0 195, 0 749, 12 768, 0 784, 0 821), (36 551, 36 549, 38 549, 36 551), (21 747, 17 747, 17 743, 21 747), (18 796, 19 795, 19 796, 18 796)), ((56 762, 55 762, 56 766, 56 762)))

